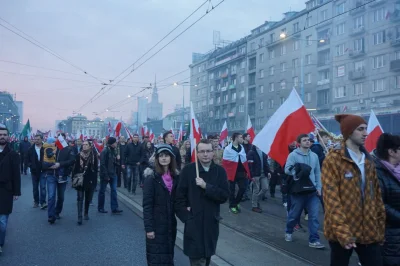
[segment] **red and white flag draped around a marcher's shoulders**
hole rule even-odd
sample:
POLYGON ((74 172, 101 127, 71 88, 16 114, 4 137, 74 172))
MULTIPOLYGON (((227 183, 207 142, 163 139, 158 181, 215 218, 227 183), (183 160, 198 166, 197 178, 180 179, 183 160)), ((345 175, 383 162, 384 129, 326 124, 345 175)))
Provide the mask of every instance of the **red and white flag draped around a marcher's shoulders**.
POLYGON ((235 180, 236 170, 239 165, 239 158, 240 162, 243 164, 244 169, 246 170, 247 177, 249 179, 251 178, 246 151, 244 150, 244 147, 242 145, 240 146, 241 150, 239 153, 233 150, 232 143, 224 149, 224 155, 222 157, 222 167, 224 167, 229 181, 235 180))

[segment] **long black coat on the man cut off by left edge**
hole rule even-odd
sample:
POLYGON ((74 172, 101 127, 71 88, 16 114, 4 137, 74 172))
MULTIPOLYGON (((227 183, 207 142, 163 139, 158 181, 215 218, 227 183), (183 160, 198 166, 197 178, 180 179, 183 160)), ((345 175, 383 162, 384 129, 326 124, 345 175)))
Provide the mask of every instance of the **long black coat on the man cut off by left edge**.
POLYGON ((12 213, 14 196, 21 196, 20 158, 7 144, 0 152, 0 214, 12 213))

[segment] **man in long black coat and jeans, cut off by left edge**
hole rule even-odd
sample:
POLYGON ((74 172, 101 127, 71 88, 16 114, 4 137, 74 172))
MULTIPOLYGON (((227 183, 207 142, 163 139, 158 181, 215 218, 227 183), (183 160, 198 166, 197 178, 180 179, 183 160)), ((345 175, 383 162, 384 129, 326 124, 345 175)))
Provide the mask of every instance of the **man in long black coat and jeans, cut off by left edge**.
POLYGON ((8 144, 8 129, 0 128, 0 255, 6 237, 8 217, 13 201, 21 196, 19 156, 8 144))

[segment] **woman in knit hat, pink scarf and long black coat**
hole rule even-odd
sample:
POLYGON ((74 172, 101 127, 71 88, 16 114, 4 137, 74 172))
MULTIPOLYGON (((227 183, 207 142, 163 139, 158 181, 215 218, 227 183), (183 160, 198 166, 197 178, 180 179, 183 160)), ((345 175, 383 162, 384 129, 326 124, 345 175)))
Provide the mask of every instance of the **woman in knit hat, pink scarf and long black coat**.
POLYGON ((147 264, 174 265, 176 218, 173 199, 178 185, 176 161, 170 145, 160 144, 154 170, 144 171, 143 221, 147 264))

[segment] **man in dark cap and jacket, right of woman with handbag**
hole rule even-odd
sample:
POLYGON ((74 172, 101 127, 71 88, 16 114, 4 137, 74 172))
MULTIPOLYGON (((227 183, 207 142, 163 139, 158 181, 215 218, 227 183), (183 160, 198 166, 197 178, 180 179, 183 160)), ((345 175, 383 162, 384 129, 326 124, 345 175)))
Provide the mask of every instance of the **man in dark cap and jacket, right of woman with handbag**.
POLYGON ((122 210, 118 209, 117 172, 115 171, 116 147, 117 140, 113 137, 110 137, 107 141, 107 147, 104 147, 100 154, 100 190, 97 206, 97 210, 100 213, 107 213, 107 211, 104 210, 104 201, 108 184, 110 184, 111 190, 111 211, 114 214, 122 213, 122 210))

